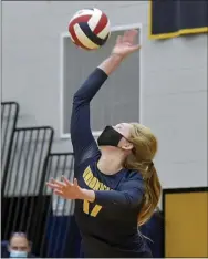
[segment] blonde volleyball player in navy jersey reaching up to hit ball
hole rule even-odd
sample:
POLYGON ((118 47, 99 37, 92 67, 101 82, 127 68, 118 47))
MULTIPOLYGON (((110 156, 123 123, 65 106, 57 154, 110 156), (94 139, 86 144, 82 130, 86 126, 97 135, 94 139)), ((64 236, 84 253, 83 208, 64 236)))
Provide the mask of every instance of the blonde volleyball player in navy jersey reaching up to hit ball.
POLYGON ((152 257, 137 226, 149 219, 160 196, 153 164, 157 141, 149 128, 138 123, 119 123, 105 127, 97 147, 90 126, 91 100, 121 62, 139 50, 134 44, 136 35, 137 31, 132 30, 118 37, 111 56, 74 95, 74 183, 65 177, 48 183, 56 195, 76 200, 84 257, 152 257))

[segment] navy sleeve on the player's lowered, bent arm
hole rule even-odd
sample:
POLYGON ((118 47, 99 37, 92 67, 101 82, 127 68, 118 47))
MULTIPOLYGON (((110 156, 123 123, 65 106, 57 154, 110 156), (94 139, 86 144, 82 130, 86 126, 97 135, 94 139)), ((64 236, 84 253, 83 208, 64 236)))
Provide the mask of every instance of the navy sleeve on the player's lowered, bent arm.
POLYGON ((144 196, 144 183, 139 177, 131 179, 121 186, 119 190, 96 190, 95 203, 114 208, 135 208, 137 207, 144 196))

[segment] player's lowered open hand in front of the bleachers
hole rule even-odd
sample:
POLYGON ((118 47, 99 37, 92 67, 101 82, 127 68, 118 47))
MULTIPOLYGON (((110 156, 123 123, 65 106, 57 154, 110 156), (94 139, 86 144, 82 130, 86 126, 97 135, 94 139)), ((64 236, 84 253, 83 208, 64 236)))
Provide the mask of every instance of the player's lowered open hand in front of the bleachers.
POLYGON ((74 183, 71 183, 64 176, 62 176, 62 180, 51 179, 46 183, 54 194, 61 196, 64 199, 82 199, 83 189, 79 186, 77 180, 74 179, 74 183))

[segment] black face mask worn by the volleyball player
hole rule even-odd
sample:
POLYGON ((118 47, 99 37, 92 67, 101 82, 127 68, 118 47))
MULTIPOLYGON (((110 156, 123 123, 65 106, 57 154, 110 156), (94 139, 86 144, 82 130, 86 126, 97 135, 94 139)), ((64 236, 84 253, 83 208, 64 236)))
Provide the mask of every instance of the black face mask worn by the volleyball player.
POLYGON ((97 138, 98 146, 118 146, 123 135, 116 132, 112 126, 106 126, 97 138))

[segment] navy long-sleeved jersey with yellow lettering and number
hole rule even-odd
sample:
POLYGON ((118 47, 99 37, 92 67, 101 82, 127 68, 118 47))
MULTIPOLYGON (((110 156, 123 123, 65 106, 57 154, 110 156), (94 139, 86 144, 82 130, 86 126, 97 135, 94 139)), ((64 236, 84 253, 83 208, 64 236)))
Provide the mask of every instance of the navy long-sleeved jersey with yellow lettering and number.
POLYGON ((75 218, 85 257, 150 257, 137 230, 144 196, 138 172, 122 169, 105 175, 97 168, 101 153, 90 126, 90 102, 107 75, 96 69, 73 99, 71 137, 75 156, 74 174, 82 188, 95 191, 95 201, 75 201, 75 218))

